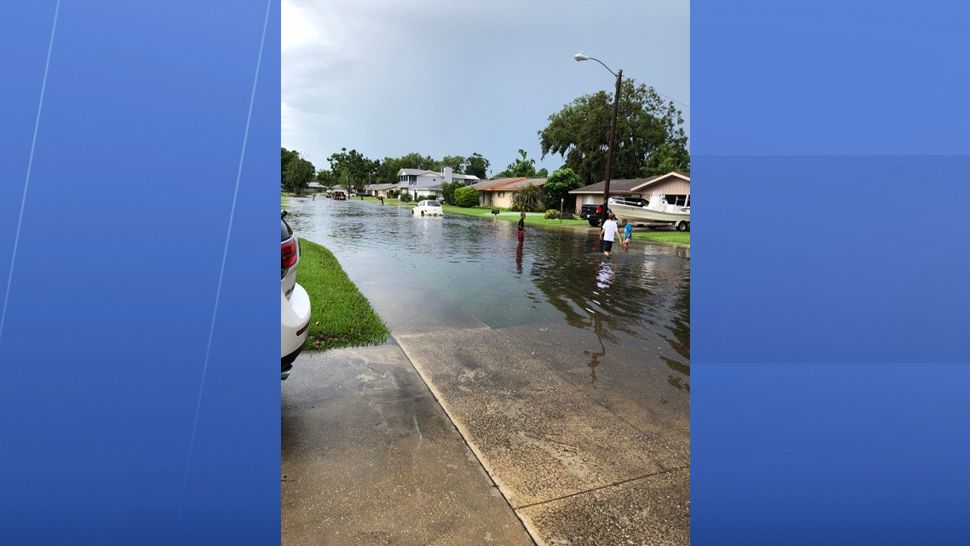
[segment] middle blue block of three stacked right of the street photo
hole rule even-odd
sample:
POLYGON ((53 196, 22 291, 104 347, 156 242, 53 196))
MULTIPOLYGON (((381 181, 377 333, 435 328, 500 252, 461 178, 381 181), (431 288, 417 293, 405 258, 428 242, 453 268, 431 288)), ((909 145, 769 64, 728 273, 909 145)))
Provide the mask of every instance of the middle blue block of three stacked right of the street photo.
POLYGON ((970 362, 970 157, 693 168, 695 362, 970 362))

